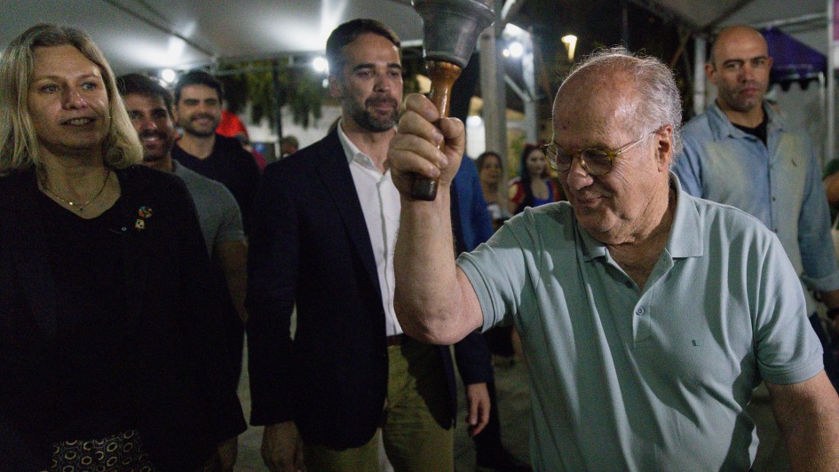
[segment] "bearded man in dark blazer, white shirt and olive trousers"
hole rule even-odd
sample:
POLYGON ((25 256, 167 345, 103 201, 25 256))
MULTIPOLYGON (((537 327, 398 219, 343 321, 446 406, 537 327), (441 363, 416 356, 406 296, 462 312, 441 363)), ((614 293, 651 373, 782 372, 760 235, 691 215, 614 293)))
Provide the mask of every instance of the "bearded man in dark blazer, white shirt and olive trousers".
MULTIPOLYGON (((402 334, 392 307, 400 201, 385 157, 402 97, 399 45, 374 20, 333 31, 329 90, 341 101, 341 121, 268 166, 257 193, 247 303, 251 422, 265 425, 262 453, 272 469, 302 465, 298 431, 310 469, 375 469, 378 429, 397 469, 454 466, 449 348, 402 334)), ((475 434, 488 418, 488 350, 475 334, 455 345, 455 358, 475 434)))

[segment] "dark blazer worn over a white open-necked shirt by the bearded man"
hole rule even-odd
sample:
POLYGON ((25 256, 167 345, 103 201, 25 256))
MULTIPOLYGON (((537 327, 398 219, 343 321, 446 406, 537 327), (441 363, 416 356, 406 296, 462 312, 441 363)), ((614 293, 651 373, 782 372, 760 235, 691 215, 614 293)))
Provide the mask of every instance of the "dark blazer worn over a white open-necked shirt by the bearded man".
MULTIPOLYGON (((364 214, 336 130, 265 169, 249 241, 251 423, 294 420, 306 442, 366 444, 382 420, 384 306, 364 214), (289 335, 297 304, 297 331, 289 335)), ((439 348, 456 411, 448 346, 439 348)), ((455 345, 467 384, 492 376, 479 334, 455 345)))

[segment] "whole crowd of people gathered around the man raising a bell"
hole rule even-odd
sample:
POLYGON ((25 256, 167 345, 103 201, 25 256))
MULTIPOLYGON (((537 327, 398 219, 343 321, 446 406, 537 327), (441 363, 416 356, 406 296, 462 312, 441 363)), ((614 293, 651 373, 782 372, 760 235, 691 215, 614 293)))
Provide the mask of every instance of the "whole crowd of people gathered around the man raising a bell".
POLYGON ((270 470, 377 470, 379 444, 453 470, 455 370, 481 468, 748 470, 764 382, 791 466, 835 469, 835 191, 764 101, 762 35, 720 32, 716 102, 684 127, 659 59, 583 59, 509 183, 403 99, 391 28, 348 21, 326 53, 340 119, 264 166, 218 132, 205 71, 117 77, 54 25, 5 48, 0 466, 232 470, 247 333, 270 470), (532 467, 502 443, 487 333, 526 359, 532 467))

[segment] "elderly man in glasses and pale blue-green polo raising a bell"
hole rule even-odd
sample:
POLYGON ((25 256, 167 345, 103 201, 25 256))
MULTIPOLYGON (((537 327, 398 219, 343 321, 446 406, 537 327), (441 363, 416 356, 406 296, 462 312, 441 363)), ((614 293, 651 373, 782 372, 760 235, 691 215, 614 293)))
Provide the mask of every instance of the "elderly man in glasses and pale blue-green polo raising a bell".
POLYGON ((746 470, 761 380, 793 468, 835 468, 839 397, 795 270, 763 224, 669 172, 681 108, 661 61, 619 48, 577 67, 545 148, 568 202, 526 210, 456 265, 446 190, 463 125, 437 120, 412 96, 389 152, 397 314, 426 342, 517 326, 534 468, 746 470), (439 177, 436 201, 411 199, 416 174, 439 177))

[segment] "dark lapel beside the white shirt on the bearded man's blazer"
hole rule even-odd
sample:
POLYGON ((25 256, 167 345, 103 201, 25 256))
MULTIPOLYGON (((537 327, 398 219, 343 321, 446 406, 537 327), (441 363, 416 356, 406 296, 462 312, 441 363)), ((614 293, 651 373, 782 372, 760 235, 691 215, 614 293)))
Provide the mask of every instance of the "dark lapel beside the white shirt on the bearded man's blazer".
POLYGON ((355 183, 352 181, 344 147, 341 146, 341 141, 338 139, 337 127, 321 141, 318 159, 317 169, 321 180, 332 198, 335 208, 338 209, 338 213, 344 219, 344 225, 350 235, 352 245, 358 250, 361 263, 364 264, 370 280, 376 287, 376 294, 379 294, 381 288, 376 271, 376 257, 373 256, 373 246, 370 243, 370 233, 367 224, 364 222, 364 212, 361 210, 359 195, 356 193, 355 183))

